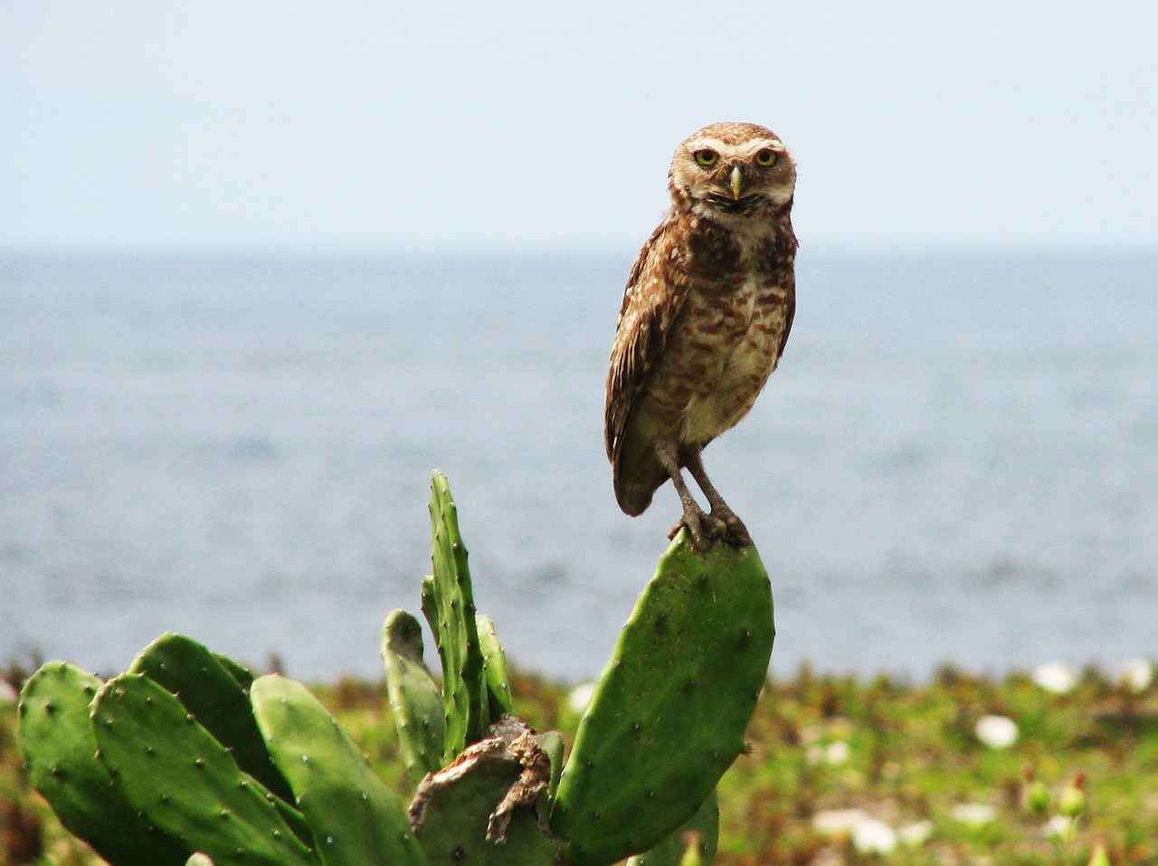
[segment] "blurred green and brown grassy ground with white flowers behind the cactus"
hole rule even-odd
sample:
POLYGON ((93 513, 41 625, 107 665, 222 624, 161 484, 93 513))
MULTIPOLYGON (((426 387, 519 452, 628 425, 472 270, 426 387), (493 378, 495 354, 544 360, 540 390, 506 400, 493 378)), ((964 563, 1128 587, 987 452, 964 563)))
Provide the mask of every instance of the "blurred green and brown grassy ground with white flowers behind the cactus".
MULTIPOLYGON (((574 733, 563 687, 530 676, 513 687, 528 722, 574 733)), ((315 693, 409 792, 383 687, 340 682, 315 693)), ((0 863, 96 863, 28 790, 15 720, 15 705, 0 699, 0 863)), ((769 683, 748 740, 720 786, 718 864, 1086 864, 1099 846, 1115 866, 1158 864, 1156 685, 1135 693, 1091 670, 1056 695, 1026 675, 946 669, 915 685, 802 670, 769 683), (1011 719, 1017 741, 982 743, 985 715, 1011 719), (1027 770, 1048 794, 1038 810, 1026 803, 1027 770), (1068 820, 1062 792, 1079 777, 1084 808, 1068 820), (824 829, 838 823, 853 829, 824 829)))

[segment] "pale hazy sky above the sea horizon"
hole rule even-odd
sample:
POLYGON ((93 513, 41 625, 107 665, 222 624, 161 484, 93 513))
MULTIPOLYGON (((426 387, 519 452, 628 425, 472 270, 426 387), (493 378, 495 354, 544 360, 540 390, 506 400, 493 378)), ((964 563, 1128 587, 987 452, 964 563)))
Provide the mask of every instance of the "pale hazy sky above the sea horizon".
POLYGON ((1153 0, 0 3, 0 248, 635 248, 723 119, 806 248, 1158 245, 1153 0))

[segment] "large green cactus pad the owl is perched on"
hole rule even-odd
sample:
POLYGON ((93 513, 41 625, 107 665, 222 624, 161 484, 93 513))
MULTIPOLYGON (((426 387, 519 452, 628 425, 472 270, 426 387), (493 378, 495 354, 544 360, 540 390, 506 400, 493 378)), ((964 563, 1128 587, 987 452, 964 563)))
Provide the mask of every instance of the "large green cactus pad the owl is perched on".
POLYGON ((768 673, 772 595, 754 546, 660 558, 579 724, 551 827, 570 866, 647 851, 743 750, 768 673))

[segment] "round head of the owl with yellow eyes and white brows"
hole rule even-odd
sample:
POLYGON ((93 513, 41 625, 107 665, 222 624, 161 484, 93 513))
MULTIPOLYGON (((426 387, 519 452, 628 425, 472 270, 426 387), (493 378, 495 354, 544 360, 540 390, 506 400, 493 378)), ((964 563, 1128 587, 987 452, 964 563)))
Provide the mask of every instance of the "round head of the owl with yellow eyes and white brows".
POLYGON ((792 201, 796 162, 771 130, 718 123, 676 148, 668 186, 674 199, 704 214, 758 214, 792 201))

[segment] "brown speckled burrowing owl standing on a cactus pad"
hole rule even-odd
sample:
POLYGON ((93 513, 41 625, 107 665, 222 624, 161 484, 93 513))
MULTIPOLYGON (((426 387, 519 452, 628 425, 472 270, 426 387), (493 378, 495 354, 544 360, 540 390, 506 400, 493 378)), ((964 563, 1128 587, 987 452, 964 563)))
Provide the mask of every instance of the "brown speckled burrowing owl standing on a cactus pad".
POLYGON ((703 550, 749 544, 712 486, 701 452, 752 409, 776 369, 796 310, 796 163, 771 130, 705 126, 672 159, 672 211, 628 278, 607 377, 607 455, 630 515, 672 479, 673 529, 703 550), (687 467, 711 512, 683 482, 687 467))

